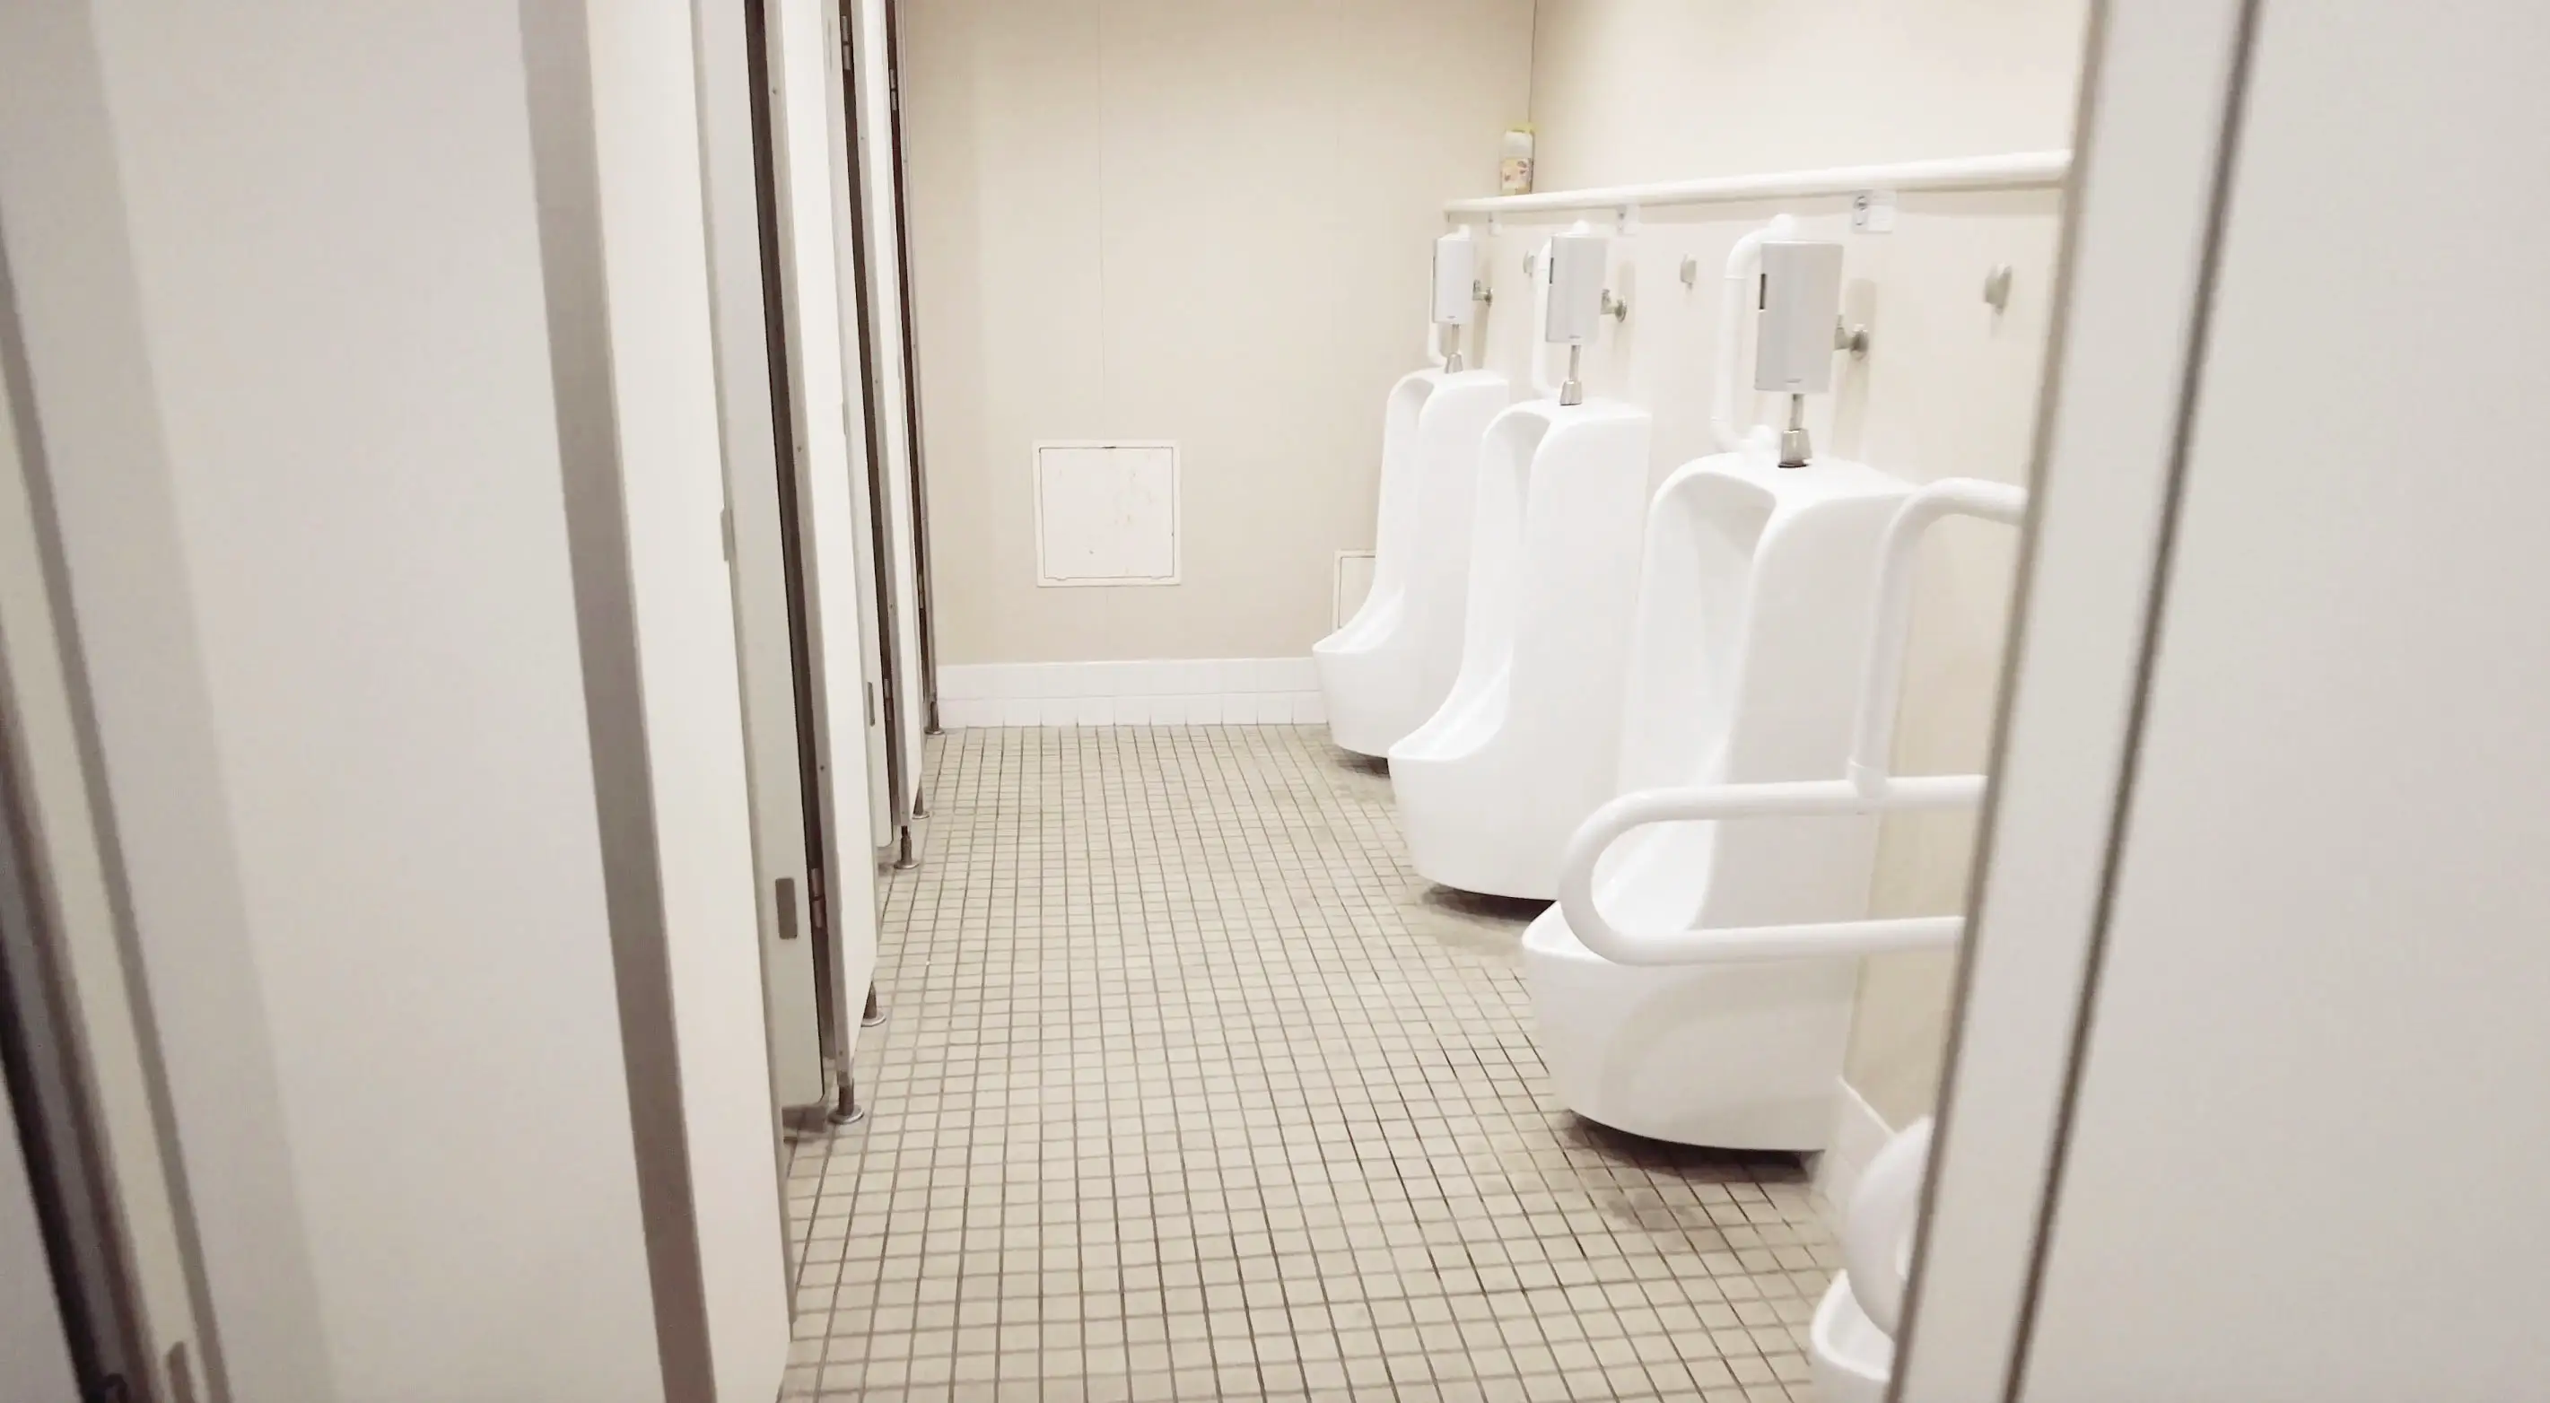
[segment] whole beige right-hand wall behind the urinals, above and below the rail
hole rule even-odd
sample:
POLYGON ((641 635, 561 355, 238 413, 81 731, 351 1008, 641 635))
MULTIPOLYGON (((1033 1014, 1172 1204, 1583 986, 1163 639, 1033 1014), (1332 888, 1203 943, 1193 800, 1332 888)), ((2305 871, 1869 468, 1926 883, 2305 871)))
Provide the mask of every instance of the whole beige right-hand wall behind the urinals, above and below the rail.
MULTIPOLYGON (((1994 156, 2071 145, 2083 0, 1540 0, 1533 33, 1533 120, 1540 189, 1622 181, 1994 156)), ((1785 202, 1836 212, 1836 202, 1785 202)), ((1708 219, 1772 212, 1721 207, 1708 219)), ((1846 237, 1844 219, 1810 219, 1810 237, 1846 237)), ((1652 253, 1683 235, 1650 219, 1637 240, 1650 311, 1711 301, 1673 281, 1652 253)), ((1698 237, 1716 273, 1737 224, 1698 237)), ((2045 316, 2053 291, 2053 191, 1907 196, 1895 235, 1851 240, 1849 278, 1867 278, 1877 349, 1833 395, 1826 439, 1890 472, 2022 482, 2045 316), (1994 263, 2017 270, 2009 311, 1979 301, 1994 263)), ((1520 240, 1502 260, 1520 260, 1520 240)), ((1678 258, 1678 255, 1675 255, 1678 258)), ((1502 286, 1517 286, 1520 268, 1502 286)), ((1520 301, 1515 304, 1520 306, 1520 301)), ((1680 311, 1675 311, 1680 316, 1680 311)), ((1619 372, 1657 411, 1660 452, 1696 449, 1708 355, 1642 349, 1686 342, 1698 321, 1660 332, 1632 316, 1619 372)), ((1522 334, 1522 332, 1515 332, 1522 334)), ((1912 676, 1897 765, 1984 765, 2009 597, 2012 536, 1981 523, 1938 528, 1915 612, 1912 676)), ((1874 903, 1884 913, 1956 911, 1971 865, 1971 821, 1910 816, 1887 824, 1874 903)), ((1892 1125, 1935 1094, 1956 964, 1946 954, 1872 959, 1861 974, 1849 1082, 1892 1125)))

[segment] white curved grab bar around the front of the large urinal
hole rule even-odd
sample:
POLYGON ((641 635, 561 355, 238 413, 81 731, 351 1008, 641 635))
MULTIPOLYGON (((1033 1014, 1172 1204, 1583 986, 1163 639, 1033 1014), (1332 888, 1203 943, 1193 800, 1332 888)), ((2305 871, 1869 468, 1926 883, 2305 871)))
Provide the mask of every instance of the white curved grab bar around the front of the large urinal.
POLYGON ((1594 811, 1568 839, 1558 906, 1568 929, 1614 964, 1719 964, 1810 959, 1956 944, 1963 916, 1900 916, 1882 921, 1810 921, 1785 926, 1719 926, 1686 931, 1622 931, 1596 903, 1594 867, 1614 842, 1647 824, 1724 819, 1821 819, 1907 809, 1974 809, 1986 775, 1892 775, 1895 709, 1902 696, 1905 645, 1912 633, 1912 566, 1923 533, 1951 515, 2017 525, 2027 492, 2004 482, 1948 477, 1905 497, 1879 546, 1869 661, 1859 684, 1851 760, 1836 781, 1711 783, 1645 788, 1594 811))

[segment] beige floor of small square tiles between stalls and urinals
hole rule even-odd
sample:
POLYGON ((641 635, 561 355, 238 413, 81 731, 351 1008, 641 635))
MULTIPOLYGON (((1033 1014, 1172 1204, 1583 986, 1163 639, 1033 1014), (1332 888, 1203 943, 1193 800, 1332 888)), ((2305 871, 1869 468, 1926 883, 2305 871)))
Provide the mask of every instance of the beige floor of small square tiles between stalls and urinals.
POLYGON ((790 1395, 1808 1398, 1805 1176, 1563 1112, 1527 911, 1410 872, 1321 727, 931 763, 875 1115, 790 1171, 790 1395))

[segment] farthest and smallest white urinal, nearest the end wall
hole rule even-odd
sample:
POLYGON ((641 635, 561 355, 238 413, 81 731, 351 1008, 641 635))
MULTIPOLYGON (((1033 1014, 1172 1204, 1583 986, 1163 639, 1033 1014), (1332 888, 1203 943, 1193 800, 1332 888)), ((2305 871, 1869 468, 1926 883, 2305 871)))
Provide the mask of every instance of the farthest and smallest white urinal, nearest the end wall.
POLYGON ((1357 755, 1387 755, 1461 668, 1479 441, 1512 398, 1494 370, 1418 370, 1390 390, 1372 592, 1311 648, 1329 735, 1357 755))

